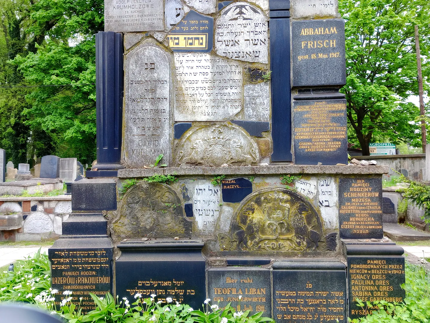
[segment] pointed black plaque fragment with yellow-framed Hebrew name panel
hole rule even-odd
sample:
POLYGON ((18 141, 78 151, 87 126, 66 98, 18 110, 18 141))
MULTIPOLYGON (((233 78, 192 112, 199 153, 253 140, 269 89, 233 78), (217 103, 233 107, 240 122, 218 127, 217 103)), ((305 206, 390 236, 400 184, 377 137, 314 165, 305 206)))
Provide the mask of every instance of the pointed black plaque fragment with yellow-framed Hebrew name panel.
POLYGON ((191 10, 167 35, 174 52, 209 53, 213 47, 214 19, 191 10))

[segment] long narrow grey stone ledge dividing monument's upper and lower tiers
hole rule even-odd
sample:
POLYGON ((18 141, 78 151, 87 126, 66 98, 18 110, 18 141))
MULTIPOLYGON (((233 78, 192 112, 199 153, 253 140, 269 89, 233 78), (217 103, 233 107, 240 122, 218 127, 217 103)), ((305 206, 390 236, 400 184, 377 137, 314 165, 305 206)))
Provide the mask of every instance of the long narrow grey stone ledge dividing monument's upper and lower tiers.
POLYGON ((388 166, 276 165, 242 167, 129 168, 118 171, 119 178, 152 175, 270 175, 270 174, 387 174, 388 166))

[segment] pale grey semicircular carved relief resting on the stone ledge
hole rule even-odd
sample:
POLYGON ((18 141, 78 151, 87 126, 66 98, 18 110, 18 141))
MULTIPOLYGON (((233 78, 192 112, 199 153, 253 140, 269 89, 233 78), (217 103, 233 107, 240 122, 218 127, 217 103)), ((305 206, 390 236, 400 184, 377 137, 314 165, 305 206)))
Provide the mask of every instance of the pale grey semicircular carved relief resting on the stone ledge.
POLYGON ((230 122, 191 127, 175 147, 177 166, 246 166, 259 162, 258 146, 230 122))

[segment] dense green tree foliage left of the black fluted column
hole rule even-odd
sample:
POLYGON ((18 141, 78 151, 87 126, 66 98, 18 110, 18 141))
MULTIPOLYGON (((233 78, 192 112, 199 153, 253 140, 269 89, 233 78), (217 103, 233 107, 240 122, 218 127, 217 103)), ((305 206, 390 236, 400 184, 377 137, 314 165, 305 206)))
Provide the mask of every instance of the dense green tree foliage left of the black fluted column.
POLYGON ((99 0, 0 0, 0 143, 15 164, 47 154, 95 159, 103 7, 99 0))

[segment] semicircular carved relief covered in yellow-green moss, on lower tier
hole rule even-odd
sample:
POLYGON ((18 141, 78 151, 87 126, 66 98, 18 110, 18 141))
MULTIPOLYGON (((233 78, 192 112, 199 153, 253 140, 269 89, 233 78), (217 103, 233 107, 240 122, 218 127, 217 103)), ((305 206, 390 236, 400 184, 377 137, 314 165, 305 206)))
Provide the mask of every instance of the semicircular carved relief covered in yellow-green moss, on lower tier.
POLYGON ((321 219, 300 194, 261 189, 233 216, 230 234, 218 234, 221 251, 326 251, 321 219))

